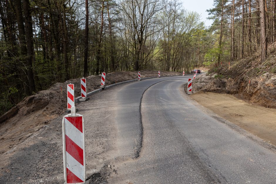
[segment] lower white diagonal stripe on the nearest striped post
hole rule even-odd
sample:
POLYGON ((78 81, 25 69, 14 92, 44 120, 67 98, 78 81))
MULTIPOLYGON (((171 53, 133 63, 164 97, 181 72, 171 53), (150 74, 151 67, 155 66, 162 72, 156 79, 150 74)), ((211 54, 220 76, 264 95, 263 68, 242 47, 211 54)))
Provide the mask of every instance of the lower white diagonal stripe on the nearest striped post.
POLYGON ((84 168, 75 158, 66 151, 66 167, 78 178, 84 181, 84 168))

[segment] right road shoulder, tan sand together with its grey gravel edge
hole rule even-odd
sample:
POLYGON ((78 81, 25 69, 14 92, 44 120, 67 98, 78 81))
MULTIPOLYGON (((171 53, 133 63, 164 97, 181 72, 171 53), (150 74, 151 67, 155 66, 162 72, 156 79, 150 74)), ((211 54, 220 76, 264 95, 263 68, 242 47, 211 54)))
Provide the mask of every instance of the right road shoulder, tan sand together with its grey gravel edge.
POLYGON ((276 153, 275 109, 251 105, 230 94, 199 92, 187 95, 184 86, 179 89, 182 96, 202 112, 276 153))

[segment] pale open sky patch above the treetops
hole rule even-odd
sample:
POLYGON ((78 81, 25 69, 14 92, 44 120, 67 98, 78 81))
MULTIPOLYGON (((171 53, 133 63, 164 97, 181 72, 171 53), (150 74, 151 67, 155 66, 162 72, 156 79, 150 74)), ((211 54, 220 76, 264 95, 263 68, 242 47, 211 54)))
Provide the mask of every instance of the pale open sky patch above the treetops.
POLYGON ((208 20, 208 12, 207 9, 213 7, 213 0, 181 0, 183 3, 183 7, 189 11, 196 11, 201 15, 201 21, 205 22, 205 25, 211 26, 213 20, 208 20))

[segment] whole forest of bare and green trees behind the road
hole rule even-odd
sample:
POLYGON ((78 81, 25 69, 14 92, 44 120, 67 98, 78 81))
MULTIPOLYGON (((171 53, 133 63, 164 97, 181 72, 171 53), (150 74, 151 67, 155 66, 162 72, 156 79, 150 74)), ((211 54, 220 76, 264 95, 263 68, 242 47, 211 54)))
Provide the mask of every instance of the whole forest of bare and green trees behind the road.
POLYGON ((228 64, 275 40, 276 0, 0 0, 0 115, 56 82, 100 72, 228 64))

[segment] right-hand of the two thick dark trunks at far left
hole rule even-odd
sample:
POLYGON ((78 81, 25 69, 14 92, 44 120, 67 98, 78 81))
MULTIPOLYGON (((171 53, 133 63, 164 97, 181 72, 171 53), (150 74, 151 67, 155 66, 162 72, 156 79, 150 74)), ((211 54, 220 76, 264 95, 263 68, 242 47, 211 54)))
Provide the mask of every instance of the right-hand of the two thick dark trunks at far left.
POLYGON ((29 0, 23 0, 23 11, 25 15, 25 33, 26 33, 26 44, 27 44, 27 73, 28 73, 29 88, 32 94, 33 92, 36 92, 36 85, 33 77, 33 60, 34 60, 33 24, 32 24, 32 17, 31 17, 29 6, 30 6, 29 0))

